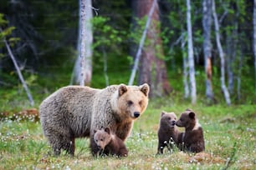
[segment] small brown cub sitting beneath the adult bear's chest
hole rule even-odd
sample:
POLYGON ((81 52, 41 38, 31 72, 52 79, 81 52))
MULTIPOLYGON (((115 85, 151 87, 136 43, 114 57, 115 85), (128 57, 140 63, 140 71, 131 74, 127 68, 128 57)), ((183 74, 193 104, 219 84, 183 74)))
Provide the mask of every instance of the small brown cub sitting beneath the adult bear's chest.
POLYGON ((116 155, 118 157, 127 157, 128 150, 125 143, 118 138, 110 128, 101 128, 95 130, 94 140, 100 151, 98 155, 116 155))

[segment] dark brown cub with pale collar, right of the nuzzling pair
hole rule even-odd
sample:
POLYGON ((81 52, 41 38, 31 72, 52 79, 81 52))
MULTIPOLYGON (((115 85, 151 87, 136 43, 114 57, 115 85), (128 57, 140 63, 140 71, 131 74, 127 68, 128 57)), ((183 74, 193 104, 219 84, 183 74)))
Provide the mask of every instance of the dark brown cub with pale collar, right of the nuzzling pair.
POLYGON ((196 118, 196 113, 193 112, 192 109, 187 108, 185 112, 182 112, 176 125, 185 128, 185 133, 182 135, 183 146, 180 149, 192 153, 204 151, 202 127, 196 118))

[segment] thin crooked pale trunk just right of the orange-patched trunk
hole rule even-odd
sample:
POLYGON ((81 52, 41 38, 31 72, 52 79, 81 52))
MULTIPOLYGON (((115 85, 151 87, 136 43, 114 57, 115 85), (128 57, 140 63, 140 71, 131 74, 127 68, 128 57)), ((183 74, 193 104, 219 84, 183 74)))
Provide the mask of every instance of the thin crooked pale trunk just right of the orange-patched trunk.
POLYGON ((231 104, 230 101, 230 97, 229 97, 229 92, 228 89, 226 87, 225 84, 225 54, 223 52, 223 47, 222 44, 220 42, 220 35, 219 35, 219 26, 218 26, 218 17, 215 11, 215 1, 212 0, 212 16, 214 19, 214 26, 215 26, 215 36, 216 36, 216 43, 217 43, 217 47, 218 47, 218 52, 219 52, 219 57, 220 57, 220 61, 221 61, 221 87, 222 87, 222 91, 226 100, 226 103, 228 105, 231 104))

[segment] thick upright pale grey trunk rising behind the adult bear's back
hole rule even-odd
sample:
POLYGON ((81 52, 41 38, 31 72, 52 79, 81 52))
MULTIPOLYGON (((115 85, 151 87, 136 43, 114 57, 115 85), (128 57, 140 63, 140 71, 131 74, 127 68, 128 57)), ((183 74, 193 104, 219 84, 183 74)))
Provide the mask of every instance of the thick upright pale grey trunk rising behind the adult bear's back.
POLYGON ((79 0, 78 55, 74 63, 70 84, 90 85, 92 76, 92 18, 91 0, 79 0))

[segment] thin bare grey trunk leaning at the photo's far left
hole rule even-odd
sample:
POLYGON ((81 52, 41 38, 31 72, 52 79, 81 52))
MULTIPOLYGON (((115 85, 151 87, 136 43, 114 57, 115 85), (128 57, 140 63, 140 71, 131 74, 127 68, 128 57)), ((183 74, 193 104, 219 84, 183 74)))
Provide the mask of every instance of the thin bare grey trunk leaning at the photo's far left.
POLYGON ((25 91, 27 92, 27 96, 28 96, 28 100, 29 100, 29 102, 30 102, 30 105, 33 106, 33 104, 34 104, 34 102, 33 102, 33 97, 32 97, 32 95, 31 95, 31 93, 30 93, 30 91, 29 91, 29 89, 28 89, 28 86, 27 86, 26 82, 24 81, 23 74, 21 73, 21 71, 20 71, 20 69, 19 69, 19 67, 18 67, 18 63, 16 62, 16 59, 15 59, 15 57, 13 56, 13 52, 12 52, 12 50, 11 50, 11 47, 9 47, 8 42, 6 41, 5 38, 3 39, 3 41, 4 41, 4 43, 5 43, 5 46, 6 46, 7 49, 8 49, 8 53, 9 53, 10 57, 11 57, 12 60, 13 60, 14 67, 16 68, 16 70, 17 70, 17 72, 18 72, 18 77, 19 77, 20 81, 22 82, 25 91))

